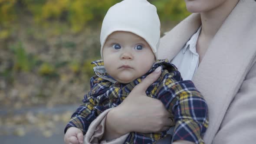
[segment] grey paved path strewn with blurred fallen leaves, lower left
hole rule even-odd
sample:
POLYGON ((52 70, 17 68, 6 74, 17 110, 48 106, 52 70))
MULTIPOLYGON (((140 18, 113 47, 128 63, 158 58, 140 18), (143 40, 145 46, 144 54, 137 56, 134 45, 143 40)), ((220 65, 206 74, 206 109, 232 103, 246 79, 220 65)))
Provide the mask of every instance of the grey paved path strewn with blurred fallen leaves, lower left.
POLYGON ((64 128, 78 105, 1 110, 1 144, 63 144, 64 128))

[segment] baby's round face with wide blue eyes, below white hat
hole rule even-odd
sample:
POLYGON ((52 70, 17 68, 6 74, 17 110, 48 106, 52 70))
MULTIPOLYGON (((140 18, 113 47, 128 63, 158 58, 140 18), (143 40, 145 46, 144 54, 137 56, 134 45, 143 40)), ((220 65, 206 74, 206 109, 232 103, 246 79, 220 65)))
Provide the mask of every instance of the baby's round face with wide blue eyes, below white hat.
POLYGON ((117 31, 103 46, 105 69, 121 83, 129 83, 148 72, 155 62, 148 43, 134 33, 117 31))

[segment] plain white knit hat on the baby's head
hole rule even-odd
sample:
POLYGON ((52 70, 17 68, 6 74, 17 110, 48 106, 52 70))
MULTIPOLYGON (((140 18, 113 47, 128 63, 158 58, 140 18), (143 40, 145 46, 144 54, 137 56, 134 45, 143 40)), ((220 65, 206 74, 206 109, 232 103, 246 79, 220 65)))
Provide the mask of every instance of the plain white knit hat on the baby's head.
POLYGON ((115 31, 131 32, 141 36, 148 42, 157 59, 160 20, 156 7, 147 0, 123 0, 108 10, 102 22, 100 35, 101 56, 106 39, 115 31))

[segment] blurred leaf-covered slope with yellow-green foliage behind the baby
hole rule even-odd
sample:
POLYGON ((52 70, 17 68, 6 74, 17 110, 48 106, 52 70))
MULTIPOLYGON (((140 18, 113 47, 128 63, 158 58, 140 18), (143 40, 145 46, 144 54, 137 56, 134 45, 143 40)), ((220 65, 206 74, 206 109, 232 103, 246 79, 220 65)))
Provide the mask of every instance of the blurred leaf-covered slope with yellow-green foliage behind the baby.
MULTIPOLYGON (((80 101, 95 75, 91 62, 100 59, 102 20, 120 1, 0 0, 0 105, 21 108, 43 104, 43 98, 56 98, 48 99, 50 105, 80 101)), ((189 15, 184 0, 148 1, 163 25, 189 15)))

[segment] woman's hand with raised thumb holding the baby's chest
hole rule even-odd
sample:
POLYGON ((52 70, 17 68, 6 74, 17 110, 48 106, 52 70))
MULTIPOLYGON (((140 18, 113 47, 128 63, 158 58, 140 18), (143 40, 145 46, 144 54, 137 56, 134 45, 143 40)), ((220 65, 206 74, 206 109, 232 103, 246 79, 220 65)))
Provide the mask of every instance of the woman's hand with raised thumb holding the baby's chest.
POLYGON ((108 112, 105 140, 117 138, 131 131, 150 133, 167 130, 171 125, 171 114, 162 102, 146 95, 147 88, 158 79, 161 67, 135 86, 125 100, 108 112))

